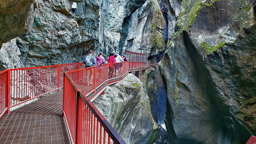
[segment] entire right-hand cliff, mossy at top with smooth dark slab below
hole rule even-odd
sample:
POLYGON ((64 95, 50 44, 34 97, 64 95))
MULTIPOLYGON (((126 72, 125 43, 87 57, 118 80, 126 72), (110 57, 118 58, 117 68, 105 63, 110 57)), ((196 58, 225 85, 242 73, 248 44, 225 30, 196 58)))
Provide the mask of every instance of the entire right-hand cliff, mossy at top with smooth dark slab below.
POLYGON ((182 1, 159 64, 169 143, 246 143, 255 132, 253 6, 182 1))

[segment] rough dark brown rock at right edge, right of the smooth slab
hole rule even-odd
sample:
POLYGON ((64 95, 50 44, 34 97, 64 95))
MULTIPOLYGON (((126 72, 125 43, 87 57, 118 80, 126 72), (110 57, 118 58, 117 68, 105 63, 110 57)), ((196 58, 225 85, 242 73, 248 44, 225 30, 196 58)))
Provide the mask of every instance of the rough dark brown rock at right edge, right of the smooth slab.
POLYGON ((256 132, 256 26, 245 29, 235 43, 208 55, 205 65, 211 73, 218 98, 237 118, 256 132))

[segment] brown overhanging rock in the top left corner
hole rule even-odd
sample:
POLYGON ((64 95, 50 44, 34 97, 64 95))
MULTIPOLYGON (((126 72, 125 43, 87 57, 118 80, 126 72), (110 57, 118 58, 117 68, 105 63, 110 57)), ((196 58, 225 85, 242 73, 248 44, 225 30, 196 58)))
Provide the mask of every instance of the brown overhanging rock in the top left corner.
POLYGON ((3 43, 29 32, 36 7, 33 0, 0 1, 0 47, 3 43))

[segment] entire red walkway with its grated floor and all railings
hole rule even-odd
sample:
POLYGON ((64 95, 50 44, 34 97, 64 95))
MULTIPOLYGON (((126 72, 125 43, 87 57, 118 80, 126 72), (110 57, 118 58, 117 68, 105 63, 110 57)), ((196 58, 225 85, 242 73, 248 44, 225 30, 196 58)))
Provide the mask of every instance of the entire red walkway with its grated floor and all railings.
POLYGON ((122 66, 118 73, 109 69, 111 63, 85 69, 83 63, 71 63, 0 72, 0 143, 125 144, 91 103, 128 72, 138 71, 141 78, 147 56, 125 53, 129 61, 113 63, 122 66))

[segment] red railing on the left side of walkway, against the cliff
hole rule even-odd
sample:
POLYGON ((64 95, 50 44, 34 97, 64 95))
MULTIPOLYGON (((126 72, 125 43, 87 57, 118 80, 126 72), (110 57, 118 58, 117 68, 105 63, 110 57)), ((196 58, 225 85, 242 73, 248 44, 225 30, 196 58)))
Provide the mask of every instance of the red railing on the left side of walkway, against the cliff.
POLYGON ((0 72, 0 118, 11 107, 63 87, 64 72, 84 68, 83 63, 8 69, 0 72))

